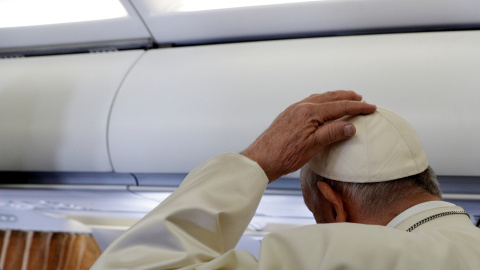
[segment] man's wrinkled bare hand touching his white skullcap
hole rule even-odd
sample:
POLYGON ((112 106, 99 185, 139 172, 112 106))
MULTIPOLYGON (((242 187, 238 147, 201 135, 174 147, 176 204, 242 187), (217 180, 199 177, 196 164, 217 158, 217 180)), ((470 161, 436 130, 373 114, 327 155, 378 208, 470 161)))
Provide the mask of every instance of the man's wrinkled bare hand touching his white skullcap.
POLYGON ((256 161, 273 182, 300 169, 322 147, 355 135, 352 124, 333 120, 375 112, 374 105, 361 100, 353 91, 312 95, 283 111, 241 154, 256 161))

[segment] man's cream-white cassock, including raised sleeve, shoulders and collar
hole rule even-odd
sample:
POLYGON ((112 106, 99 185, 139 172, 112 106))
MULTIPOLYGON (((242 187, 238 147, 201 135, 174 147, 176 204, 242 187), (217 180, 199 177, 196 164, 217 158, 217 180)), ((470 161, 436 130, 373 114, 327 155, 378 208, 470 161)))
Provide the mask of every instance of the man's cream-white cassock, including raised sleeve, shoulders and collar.
POLYGON ((395 228, 332 223, 271 233, 257 260, 233 248, 267 183, 254 161, 216 156, 113 242, 92 269, 480 269, 480 229, 457 206, 404 212, 395 228))

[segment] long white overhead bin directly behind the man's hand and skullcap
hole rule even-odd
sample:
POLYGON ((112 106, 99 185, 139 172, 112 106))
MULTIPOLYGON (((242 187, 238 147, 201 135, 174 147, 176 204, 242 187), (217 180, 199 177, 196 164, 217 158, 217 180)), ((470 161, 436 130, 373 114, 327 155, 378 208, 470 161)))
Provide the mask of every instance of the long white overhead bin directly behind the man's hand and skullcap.
POLYGON ((351 89, 402 115, 441 175, 480 175, 480 31, 149 50, 112 109, 117 172, 185 173, 247 147, 288 105, 351 89))

